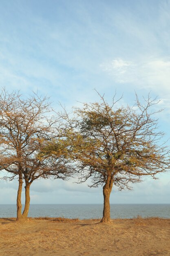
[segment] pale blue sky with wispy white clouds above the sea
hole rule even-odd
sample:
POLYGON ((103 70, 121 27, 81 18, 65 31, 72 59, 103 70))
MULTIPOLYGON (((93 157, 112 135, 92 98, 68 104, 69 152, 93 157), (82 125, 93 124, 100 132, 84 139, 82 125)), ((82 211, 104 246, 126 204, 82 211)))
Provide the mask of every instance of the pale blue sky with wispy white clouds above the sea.
MULTIPOLYGON (((0 0, 0 86, 48 95, 56 110, 98 101, 94 89, 125 105, 150 92, 169 138, 170 0, 0 0)), ((170 172, 158 177, 113 188, 110 203, 170 203, 170 172)), ((31 203, 103 203, 101 187, 73 182, 35 181, 31 203)), ((16 194, 17 180, 0 180, 0 204, 16 194)))

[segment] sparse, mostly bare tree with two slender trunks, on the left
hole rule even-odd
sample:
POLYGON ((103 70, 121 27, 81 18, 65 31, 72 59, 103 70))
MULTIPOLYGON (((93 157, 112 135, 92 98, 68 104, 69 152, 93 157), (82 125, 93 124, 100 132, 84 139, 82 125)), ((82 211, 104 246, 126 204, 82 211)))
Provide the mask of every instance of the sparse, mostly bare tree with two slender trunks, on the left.
POLYGON ((0 94, 0 170, 10 180, 18 177, 17 220, 28 216, 32 182, 38 178, 65 179, 71 173, 71 164, 66 157, 60 127, 54 128, 59 119, 53 115, 47 97, 33 94, 24 99, 19 92, 0 94), (57 132, 56 132, 57 131, 57 132), (53 155, 42 153, 46 145, 57 141, 53 155), (60 150, 59 150, 60 149, 60 150), (25 207, 22 213, 21 194, 25 181, 25 207))

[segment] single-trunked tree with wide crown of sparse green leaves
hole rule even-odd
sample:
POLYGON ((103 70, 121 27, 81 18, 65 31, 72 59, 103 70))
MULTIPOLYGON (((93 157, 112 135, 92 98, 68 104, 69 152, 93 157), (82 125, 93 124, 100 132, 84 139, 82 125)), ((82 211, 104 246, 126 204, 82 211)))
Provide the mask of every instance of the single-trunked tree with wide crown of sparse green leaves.
MULTIPOLYGON (((84 103, 75 108, 75 117, 69 121, 70 144, 73 145, 80 182, 92 179, 91 187, 103 186, 104 209, 101 222, 110 222, 110 193, 113 186, 128 188, 141 177, 155 178, 170 167, 169 150, 161 144, 163 132, 157 129, 152 112, 156 99, 139 102, 134 106, 116 108, 117 101, 109 105, 104 96, 101 102, 84 103)), ((120 100, 120 99, 119 99, 120 100)), ((119 101, 118 100, 118 101, 119 101)))

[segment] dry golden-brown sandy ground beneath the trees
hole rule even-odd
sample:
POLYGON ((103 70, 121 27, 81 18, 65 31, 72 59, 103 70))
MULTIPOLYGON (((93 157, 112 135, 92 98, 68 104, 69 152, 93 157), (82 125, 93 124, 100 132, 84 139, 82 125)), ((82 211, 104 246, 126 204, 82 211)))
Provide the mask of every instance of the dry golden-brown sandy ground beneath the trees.
POLYGON ((170 255, 170 219, 0 219, 0 256, 170 255))

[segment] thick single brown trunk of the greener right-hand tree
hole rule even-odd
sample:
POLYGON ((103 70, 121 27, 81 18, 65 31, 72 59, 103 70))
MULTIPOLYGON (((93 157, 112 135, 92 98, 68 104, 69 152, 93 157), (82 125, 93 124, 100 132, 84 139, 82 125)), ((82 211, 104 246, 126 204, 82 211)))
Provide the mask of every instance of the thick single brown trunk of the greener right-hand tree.
POLYGON ((104 208, 103 208, 103 218, 101 222, 110 222, 110 193, 112 191, 113 178, 108 176, 106 183, 103 187, 103 196, 104 196, 104 208))

